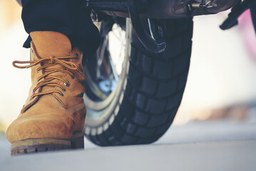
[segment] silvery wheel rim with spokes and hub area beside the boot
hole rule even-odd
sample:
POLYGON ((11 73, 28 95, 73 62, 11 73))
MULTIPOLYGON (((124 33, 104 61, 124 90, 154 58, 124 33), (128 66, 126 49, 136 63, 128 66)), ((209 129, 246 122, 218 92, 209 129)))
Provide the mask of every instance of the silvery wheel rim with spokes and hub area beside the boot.
POLYGON ((113 24, 111 31, 103 36, 101 46, 96 53, 97 60, 94 67, 88 66, 91 63, 85 66, 84 101, 87 108, 85 127, 87 132, 91 132, 93 128, 95 132, 103 123, 110 125, 111 121, 108 120, 113 120, 111 117, 118 113, 119 105, 123 100, 123 91, 126 88, 131 30, 130 19, 126 19, 126 31, 123 31, 118 24, 113 24))

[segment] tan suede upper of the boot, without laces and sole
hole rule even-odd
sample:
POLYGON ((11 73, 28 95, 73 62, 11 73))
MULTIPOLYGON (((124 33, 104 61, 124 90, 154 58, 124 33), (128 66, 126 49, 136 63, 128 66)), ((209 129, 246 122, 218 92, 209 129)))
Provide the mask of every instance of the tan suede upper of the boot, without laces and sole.
MULTIPOLYGON (((83 71, 82 58, 83 53, 78 48, 71 48, 69 39, 61 34, 52 31, 35 31, 31 33, 31 61, 38 61, 48 56, 78 56, 78 58, 68 59, 68 62, 76 63, 79 70, 83 71)), ((58 76, 68 81, 69 86, 63 81, 53 80, 63 86, 62 90, 58 86, 42 86, 34 93, 40 93, 46 90, 59 90, 59 93, 39 95, 31 98, 34 88, 38 85, 37 78, 45 72, 39 68, 47 63, 39 63, 31 67, 31 88, 29 97, 26 100, 24 108, 19 117, 14 120, 6 132, 9 142, 34 138, 71 138, 74 131, 83 130, 86 119, 86 106, 83 103, 83 93, 85 92, 85 76, 78 71, 65 68, 61 64, 49 66, 47 69, 66 69, 73 73, 71 77, 67 73, 55 72, 48 76, 58 76)), ((45 78, 43 78, 45 79, 45 78)), ((43 81, 42 79, 42 81, 43 81)))

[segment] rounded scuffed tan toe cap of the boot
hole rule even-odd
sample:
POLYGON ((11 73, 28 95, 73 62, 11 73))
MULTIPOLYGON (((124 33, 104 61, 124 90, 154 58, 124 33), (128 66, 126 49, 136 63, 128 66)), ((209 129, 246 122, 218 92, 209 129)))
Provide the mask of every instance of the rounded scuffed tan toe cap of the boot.
POLYGON ((71 118, 34 115, 14 120, 6 131, 6 137, 11 143, 35 138, 68 139, 73 134, 73 128, 71 118))

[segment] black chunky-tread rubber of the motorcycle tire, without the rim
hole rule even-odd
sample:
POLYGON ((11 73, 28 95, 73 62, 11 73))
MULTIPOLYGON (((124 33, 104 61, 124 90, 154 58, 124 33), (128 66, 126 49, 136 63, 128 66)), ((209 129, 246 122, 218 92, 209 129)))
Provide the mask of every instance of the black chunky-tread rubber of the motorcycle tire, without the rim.
POLYGON ((100 135, 86 135, 96 145, 148 144, 173 123, 188 77, 193 19, 165 23, 163 53, 150 53, 133 36, 128 83, 118 115, 100 135))

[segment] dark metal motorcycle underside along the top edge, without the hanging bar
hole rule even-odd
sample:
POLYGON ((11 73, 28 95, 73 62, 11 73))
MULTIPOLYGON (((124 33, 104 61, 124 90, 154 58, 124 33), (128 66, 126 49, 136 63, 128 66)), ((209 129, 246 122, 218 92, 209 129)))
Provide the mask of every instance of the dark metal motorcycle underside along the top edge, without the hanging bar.
MULTIPOLYGON (((129 17, 129 0, 83 0, 83 4, 111 16, 129 17)), ((178 19, 217 14, 235 6, 240 0, 136 0, 140 16, 150 19, 178 19)))

